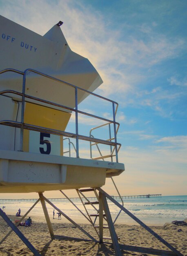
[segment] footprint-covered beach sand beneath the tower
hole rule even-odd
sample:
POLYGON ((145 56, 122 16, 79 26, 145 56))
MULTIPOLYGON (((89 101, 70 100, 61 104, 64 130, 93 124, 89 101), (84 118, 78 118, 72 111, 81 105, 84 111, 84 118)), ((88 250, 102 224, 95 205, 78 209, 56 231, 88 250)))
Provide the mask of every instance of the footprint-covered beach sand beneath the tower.
MULTIPOLYGON (((55 216, 56 217, 56 216, 55 216)), ((9 216, 11 220, 19 219, 16 216, 9 216)), ((40 252, 42 256, 48 255, 65 255, 65 256, 112 256, 115 255, 114 249, 110 244, 98 244, 94 242, 76 241, 76 240, 51 240, 49 235, 49 230, 45 222, 45 218, 41 216, 34 218, 33 225, 31 227, 21 227, 20 231, 24 234, 27 239, 32 243, 32 245, 40 252)), ((51 224, 55 235, 61 236, 71 236, 77 238, 89 239, 85 234, 83 234, 78 228, 76 228, 71 223, 64 222, 64 219, 58 220, 58 218, 51 218, 51 224)), ((89 234, 97 238, 95 230, 89 224, 80 225, 89 234)), ((167 242, 169 242, 173 247, 178 249, 184 256, 187 256, 187 226, 176 226, 171 223, 167 223, 164 227, 152 226, 151 227, 157 234, 162 236, 167 242), (182 231, 178 231, 182 229, 182 231)), ((138 225, 115 225, 116 233, 120 237, 120 243, 125 245, 134 245, 140 247, 149 247, 154 249, 165 249, 167 247, 160 243, 159 240, 154 238, 148 231, 143 229, 138 225)), ((0 217, 0 239, 2 239, 10 227, 4 222, 2 217, 0 217)), ((109 230, 104 230, 106 236, 109 236, 109 230)), ((110 240, 107 240, 110 242, 110 240)), ((33 255, 32 252, 24 245, 22 240, 16 236, 14 232, 2 243, 0 244, 0 255, 6 256, 29 256, 33 255)), ((149 255, 137 252, 127 252, 122 250, 122 255, 149 255)))

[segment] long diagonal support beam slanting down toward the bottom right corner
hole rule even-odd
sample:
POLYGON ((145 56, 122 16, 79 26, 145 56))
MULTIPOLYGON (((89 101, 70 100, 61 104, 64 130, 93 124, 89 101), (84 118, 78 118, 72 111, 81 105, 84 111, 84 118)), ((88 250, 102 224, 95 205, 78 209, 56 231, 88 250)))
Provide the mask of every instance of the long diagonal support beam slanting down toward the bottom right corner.
POLYGON ((147 225, 145 225, 141 220, 139 220, 136 216, 134 216, 134 214, 132 214, 130 211, 128 211, 125 207, 123 207, 121 204, 119 204, 114 198, 112 198, 109 194, 107 194, 104 190, 102 190, 101 188, 96 188, 98 189, 99 192, 102 193, 102 195, 104 195, 105 197, 107 197, 109 200, 111 200, 111 202, 113 202, 114 204, 116 204, 120 209, 122 209, 122 211, 124 211, 125 213, 127 213, 127 215, 129 215, 133 220, 135 220, 136 222, 138 222, 138 224, 140 224, 143 228, 145 228, 147 231, 149 231, 149 233, 151 233, 154 237, 156 237, 160 242, 162 242, 164 245, 166 245, 172 252, 174 252, 176 255, 178 256, 184 256, 183 254, 181 254, 176 248, 174 248, 172 245, 170 245, 166 240, 164 240, 161 236, 159 236, 156 232, 154 232, 150 227, 148 227, 147 225))

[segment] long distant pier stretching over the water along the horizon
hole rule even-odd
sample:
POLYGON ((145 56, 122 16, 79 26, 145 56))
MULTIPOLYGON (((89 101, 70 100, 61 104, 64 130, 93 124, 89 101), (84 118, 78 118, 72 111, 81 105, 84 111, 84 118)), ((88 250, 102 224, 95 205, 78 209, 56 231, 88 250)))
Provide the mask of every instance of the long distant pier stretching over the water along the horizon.
MULTIPOLYGON (((135 199, 135 198, 161 198, 162 194, 154 194, 154 195, 122 195, 122 199, 135 199)), ((120 199, 119 196, 113 195, 112 198, 118 200, 120 199)), ((51 201, 66 201, 67 198, 48 198, 51 201)), ((80 198, 69 198, 72 201, 77 201, 80 198)), ((95 197, 88 197, 89 200, 95 199, 95 197)), ((38 198, 22 198, 22 199, 0 199, 0 202, 31 202, 31 201, 37 201, 38 198)))

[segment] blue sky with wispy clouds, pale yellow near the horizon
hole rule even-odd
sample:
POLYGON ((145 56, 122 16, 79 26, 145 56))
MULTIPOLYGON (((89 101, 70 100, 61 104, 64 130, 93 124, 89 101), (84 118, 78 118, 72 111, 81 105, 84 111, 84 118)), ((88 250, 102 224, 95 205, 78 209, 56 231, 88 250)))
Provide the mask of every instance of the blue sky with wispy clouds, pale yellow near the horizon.
MULTIPOLYGON (((187 1, 0 0, 0 15, 40 35, 62 20, 71 50, 94 65, 96 93, 119 103, 122 195, 187 195, 187 1)), ((104 189, 116 195, 111 180, 104 189)))

